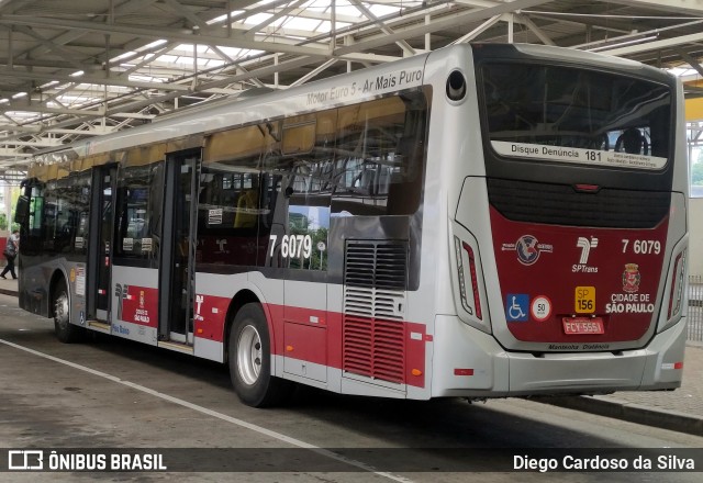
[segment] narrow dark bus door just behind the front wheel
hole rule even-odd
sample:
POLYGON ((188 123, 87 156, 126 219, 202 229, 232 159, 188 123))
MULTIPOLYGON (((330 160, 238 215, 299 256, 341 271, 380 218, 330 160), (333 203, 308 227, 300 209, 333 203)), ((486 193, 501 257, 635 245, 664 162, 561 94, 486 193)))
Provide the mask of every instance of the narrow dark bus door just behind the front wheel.
POLYGON ((101 166, 92 173, 90 227, 88 245, 87 315, 89 319, 108 323, 110 313, 110 279, 114 234, 115 165, 101 166), (92 243, 97 240, 97 243, 92 243))

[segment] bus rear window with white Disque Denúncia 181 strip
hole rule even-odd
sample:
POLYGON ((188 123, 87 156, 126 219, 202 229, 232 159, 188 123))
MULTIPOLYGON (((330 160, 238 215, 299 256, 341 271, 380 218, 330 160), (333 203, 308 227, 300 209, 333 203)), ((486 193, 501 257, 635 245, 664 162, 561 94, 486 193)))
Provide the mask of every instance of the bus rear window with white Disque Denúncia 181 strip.
POLYGON ((671 155, 667 86, 592 70, 489 63, 484 126, 500 155, 661 169, 671 155))

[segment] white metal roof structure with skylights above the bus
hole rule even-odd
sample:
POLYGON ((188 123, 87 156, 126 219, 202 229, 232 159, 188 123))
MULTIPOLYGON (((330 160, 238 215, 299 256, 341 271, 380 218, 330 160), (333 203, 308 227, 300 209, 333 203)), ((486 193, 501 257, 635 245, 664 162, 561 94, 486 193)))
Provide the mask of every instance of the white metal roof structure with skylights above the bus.
POLYGON ((703 0, 0 0, 0 178, 192 104, 462 42, 622 56, 703 94, 703 0))

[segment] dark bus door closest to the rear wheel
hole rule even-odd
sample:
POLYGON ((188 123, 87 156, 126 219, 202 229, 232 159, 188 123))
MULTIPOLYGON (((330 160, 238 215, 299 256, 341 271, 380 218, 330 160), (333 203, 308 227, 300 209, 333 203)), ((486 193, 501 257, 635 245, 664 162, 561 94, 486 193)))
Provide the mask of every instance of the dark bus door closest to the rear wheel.
POLYGON ((159 340, 192 345, 200 150, 166 160, 164 242, 159 273, 159 340))

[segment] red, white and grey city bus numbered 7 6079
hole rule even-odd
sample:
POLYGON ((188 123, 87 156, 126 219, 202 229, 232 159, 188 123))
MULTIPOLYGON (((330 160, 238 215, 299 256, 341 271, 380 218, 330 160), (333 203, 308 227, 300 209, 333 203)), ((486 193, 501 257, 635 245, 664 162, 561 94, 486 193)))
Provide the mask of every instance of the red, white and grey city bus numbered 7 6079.
POLYGON ((680 386, 683 93, 627 59, 451 46, 33 159, 20 306, 295 384, 412 400, 680 386))

